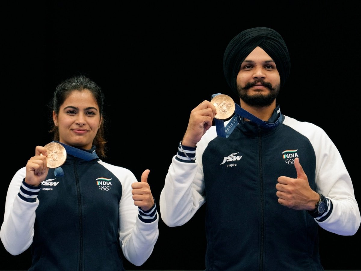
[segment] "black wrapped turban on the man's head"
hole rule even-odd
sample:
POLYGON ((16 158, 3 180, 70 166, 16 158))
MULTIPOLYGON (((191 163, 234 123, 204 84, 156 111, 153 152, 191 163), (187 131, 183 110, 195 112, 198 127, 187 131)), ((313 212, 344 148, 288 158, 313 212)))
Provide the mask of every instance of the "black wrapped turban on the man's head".
POLYGON ((223 56, 223 72, 231 89, 237 91, 237 75, 244 59, 257 46, 273 59, 279 72, 281 86, 290 74, 291 62, 282 36, 268 27, 247 29, 236 35, 228 44, 223 56))

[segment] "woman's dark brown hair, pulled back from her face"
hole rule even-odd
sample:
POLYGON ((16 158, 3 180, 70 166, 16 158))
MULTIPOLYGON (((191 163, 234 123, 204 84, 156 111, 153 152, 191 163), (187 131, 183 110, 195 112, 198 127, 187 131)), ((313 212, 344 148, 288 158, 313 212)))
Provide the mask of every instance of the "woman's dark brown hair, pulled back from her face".
MULTIPOLYGON (((99 113, 102 119, 98 132, 93 140, 92 145, 96 146, 97 155, 102 158, 105 156, 105 138, 104 138, 104 116, 103 116, 103 104, 104 104, 104 94, 101 90, 100 86, 95 82, 91 81, 88 77, 84 75, 73 76, 69 79, 62 81, 55 89, 53 99, 51 101, 51 108, 58 115, 60 106, 64 103, 65 99, 68 98, 71 92, 74 90, 82 91, 89 90, 98 106, 99 113)), ((59 141, 59 129, 58 127, 52 123, 52 128, 49 130, 50 133, 53 133, 53 140, 59 141)))

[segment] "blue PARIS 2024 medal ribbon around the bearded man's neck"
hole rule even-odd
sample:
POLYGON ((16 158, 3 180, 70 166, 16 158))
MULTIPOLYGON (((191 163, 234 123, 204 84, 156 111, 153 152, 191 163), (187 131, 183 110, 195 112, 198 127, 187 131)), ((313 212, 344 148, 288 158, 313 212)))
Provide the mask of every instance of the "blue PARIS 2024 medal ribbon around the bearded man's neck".
MULTIPOLYGON (((219 94, 221 93, 213 94, 212 99, 219 94)), ((244 110, 242 107, 239 106, 239 104, 236 103, 235 103, 235 113, 236 114, 232 117, 232 119, 227 123, 226 126, 224 120, 218 120, 214 118, 214 123, 216 124, 216 130, 218 136, 229 137, 230 134, 233 132, 234 128, 238 125, 240 116, 245 117, 246 119, 251 120, 256 124, 262 126, 263 128, 268 128, 268 129, 274 128, 279 124, 281 124, 282 122, 282 115, 280 110, 278 111, 279 113, 278 119, 273 123, 269 123, 261 119, 258 119, 255 115, 252 115, 248 111, 244 110)))

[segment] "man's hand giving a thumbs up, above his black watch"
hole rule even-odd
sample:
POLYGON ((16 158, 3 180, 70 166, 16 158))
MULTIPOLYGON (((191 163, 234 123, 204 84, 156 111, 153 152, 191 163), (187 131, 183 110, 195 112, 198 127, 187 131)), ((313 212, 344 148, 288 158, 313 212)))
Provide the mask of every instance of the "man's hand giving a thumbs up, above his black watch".
POLYGON ((299 158, 295 158, 295 169, 297 178, 278 177, 276 184, 278 203, 295 210, 314 210, 319 195, 310 188, 299 158))

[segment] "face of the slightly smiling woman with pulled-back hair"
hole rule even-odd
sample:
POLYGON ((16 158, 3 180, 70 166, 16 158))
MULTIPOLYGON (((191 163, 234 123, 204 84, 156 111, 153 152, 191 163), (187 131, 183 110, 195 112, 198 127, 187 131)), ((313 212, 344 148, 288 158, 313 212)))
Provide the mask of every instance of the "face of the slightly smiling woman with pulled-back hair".
POLYGON ((101 124, 99 106, 89 90, 73 90, 53 112, 54 124, 59 129, 59 142, 89 150, 101 124))

